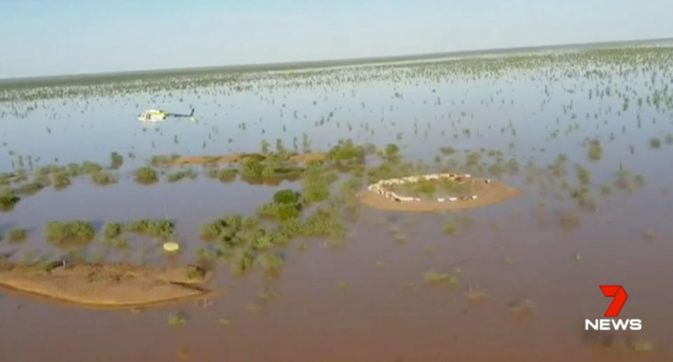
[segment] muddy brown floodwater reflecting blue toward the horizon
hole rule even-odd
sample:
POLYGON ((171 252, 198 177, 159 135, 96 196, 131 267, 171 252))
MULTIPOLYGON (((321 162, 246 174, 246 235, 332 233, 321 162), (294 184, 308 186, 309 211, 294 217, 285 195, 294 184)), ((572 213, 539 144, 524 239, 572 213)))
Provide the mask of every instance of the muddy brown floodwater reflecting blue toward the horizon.
POLYGON ((80 177, 64 190, 22 196, 0 213, 4 235, 13 227, 29 230, 21 244, 0 241, 0 253, 15 251, 13 260, 62 253, 45 241, 48 221, 82 218, 100 226, 170 218, 182 244, 178 258, 142 238, 125 251, 96 240, 81 253, 137 261, 142 249, 151 263, 193 262, 205 244, 200 223, 253 216, 273 193, 301 190, 301 182, 221 183, 193 167, 197 179, 168 183, 162 176, 143 186, 132 171, 153 155, 256 152, 262 139, 271 148, 281 139, 292 150, 296 138, 299 151, 327 151, 339 139, 392 143, 406 160, 429 167, 458 162, 461 169, 469 169, 465 155, 478 152, 486 167, 474 174, 524 190, 460 213, 362 207, 336 246, 318 238, 279 246, 285 264, 276 279, 257 269, 238 277, 215 263, 217 293, 207 307, 188 301, 140 312, 98 310, 1 290, 0 361, 667 361, 673 358, 667 344, 673 291, 666 284, 673 279, 669 46, 74 79, 40 88, 0 84, 0 172, 28 168, 29 157, 37 169, 84 160, 108 165, 113 151, 124 156, 115 185, 80 177), (194 108, 198 123, 136 120, 149 108, 194 108), (587 139, 599 139, 600 157, 588 157, 587 139), (456 153, 442 155, 446 146, 456 153), (490 169, 497 158, 491 150, 517 160, 518 171, 490 169), (562 153, 566 171, 554 175, 550 165, 562 153), (590 207, 570 197, 580 185, 576 164, 590 172, 590 207), (615 186, 620 169, 641 181, 615 186), (609 186, 609 195, 601 186, 609 186), (456 235, 442 232, 447 220, 457 220, 456 235), (460 282, 428 283, 430 270, 460 282), (642 330, 585 331, 585 319, 601 318, 609 305, 601 284, 624 286, 629 299, 620 318, 641 319, 642 330), (521 300, 531 307, 517 308, 521 300), (168 314, 177 311, 186 325, 169 326, 168 314))

